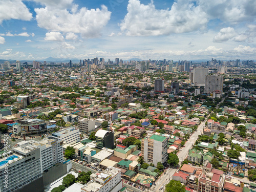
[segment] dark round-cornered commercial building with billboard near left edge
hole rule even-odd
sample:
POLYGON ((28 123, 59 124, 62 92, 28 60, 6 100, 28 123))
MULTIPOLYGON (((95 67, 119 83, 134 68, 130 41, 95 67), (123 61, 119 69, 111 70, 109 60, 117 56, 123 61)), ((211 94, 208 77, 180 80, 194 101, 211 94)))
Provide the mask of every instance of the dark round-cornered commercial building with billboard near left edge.
POLYGON ((46 121, 41 119, 24 119, 20 121, 20 129, 23 134, 40 134, 47 132, 46 121))

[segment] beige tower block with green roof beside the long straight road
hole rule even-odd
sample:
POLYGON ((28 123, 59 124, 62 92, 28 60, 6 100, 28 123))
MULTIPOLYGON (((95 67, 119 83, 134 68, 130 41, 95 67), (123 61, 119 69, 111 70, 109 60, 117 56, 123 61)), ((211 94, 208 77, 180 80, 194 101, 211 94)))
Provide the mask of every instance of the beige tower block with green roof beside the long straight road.
POLYGON ((168 139, 160 135, 145 137, 141 141, 141 152, 144 161, 148 164, 164 163, 167 158, 168 139))

